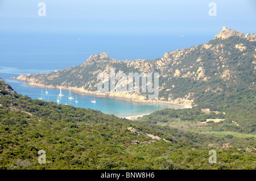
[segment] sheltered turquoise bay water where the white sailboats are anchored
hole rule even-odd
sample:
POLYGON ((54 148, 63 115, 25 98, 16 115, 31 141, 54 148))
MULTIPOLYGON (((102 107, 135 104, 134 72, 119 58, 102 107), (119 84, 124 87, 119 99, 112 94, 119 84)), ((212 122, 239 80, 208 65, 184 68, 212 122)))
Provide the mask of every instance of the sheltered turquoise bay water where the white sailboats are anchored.
MULTIPOLYGON (((30 87, 26 86, 24 82, 12 80, 12 79, 4 79, 7 83, 9 83, 13 89, 18 92, 18 94, 28 95, 32 99, 38 99, 42 96, 42 90, 44 95, 44 101, 53 101, 57 103, 57 95, 60 93, 60 90, 57 89, 47 89, 48 94, 46 94, 46 89, 41 89, 39 87, 30 87)), ((93 99, 92 95, 85 95, 81 92, 71 92, 72 96, 79 101, 79 103, 75 102, 75 99, 68 99, 69 91, 61 90, 61 93, 64 95, 60 97, 60 104, 69 104, 75 107, 83 107, 90 108, 93 110, 99 110, 103 113, 107 113, 109 115, 115 115, 117 117, 128 117, 135 115, 142 115, 146 113, 151 113, 156 110, 162 110, 164 108, 182 108, 182 106, 176 106, 171 104, 142 104, 142 103, 131 103, 118 99, 109 99, 96 97, 96 103, 92 103, 93 99)))

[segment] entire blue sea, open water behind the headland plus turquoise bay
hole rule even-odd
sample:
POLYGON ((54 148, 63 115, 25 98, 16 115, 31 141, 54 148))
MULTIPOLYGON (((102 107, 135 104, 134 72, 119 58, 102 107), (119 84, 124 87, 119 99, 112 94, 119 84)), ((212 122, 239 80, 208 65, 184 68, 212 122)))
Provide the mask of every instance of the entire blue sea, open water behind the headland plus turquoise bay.
MULTIPOLYGON (((164 56, 164 53, 189 48, 213 39, 212 34, 179 33, 50 33, 50 32, 0 32, 0 77, 22 95, 32 99, 44 96, 44 101, 56 102, 60 90, 27 86, 11 77, 20 74, 48 73, 85 62, 90 55, 106 52, 117 60, 152 60, 164 56)), ((148 114, 164 108, 179 109, 183 106, 171 104, 132 103, 124 100, 71 92, 77 97, 68 99, 69 92, 62 90, 64 96, 60 104, 90 108, 117 117, 129 117, 148 114)))

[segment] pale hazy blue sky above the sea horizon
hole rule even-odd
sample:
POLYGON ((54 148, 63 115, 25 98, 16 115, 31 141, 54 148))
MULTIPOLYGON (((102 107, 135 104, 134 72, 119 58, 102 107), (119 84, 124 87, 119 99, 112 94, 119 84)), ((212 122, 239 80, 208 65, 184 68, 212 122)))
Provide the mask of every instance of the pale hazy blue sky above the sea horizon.
POLYGON ((170 33, 256 31, 256 1, 0 0, 0 31, 170 33), (38 3, 46 16, 38 16, 38 3), (210 2, 217 16, 209 16, 210 2))

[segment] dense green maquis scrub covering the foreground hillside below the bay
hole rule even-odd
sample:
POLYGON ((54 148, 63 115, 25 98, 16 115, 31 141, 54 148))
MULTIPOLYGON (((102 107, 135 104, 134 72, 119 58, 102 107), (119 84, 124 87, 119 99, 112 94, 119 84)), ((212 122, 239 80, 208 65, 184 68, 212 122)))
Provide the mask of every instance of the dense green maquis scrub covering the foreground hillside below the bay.
MULTIPOLYGON (((33 100, 16 94, 2 79, 0 90, 0 169, 256 169, 254 137, 215 137, 33 100), (171 142, 150 142, 128 127, 171 142), (216 164, 208 161, 212 149, 216 164), (39 150, 46 151, 46 163, 38 163, 39 150)), ((208 118, 196 108, 163 114, 208 118)))

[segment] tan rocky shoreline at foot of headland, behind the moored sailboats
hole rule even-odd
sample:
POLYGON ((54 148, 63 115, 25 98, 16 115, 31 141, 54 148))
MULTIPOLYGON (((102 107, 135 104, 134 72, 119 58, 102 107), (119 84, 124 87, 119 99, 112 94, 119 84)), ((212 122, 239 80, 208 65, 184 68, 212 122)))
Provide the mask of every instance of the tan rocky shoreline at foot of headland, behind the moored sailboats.
POLYGON ((191 104, 186 103, 180 103, 180 100, 172 100, 172 101, 166 101, 166 100, 158 100, 158 99, 150 99, 150 100, 144 100, 145 97, 142 95, 139 95, 138 93, 129 94, 127 92, 98 92, 98 91, 88 91, 85 90, 84 87, 65 87, 65 86, 52 86, 52 85, 42 85, 40 83, 32 83, 30 81, 22 80, 17 77, 11 77, 10 79, 14 79, 20 82, 24 82, 26 86, 30 87, 40 87, 43 89, 62 89, 73 92, 79 92, 82 95, 95 95, 100 98, 110 98, 110 99, 117 99, 117 100, 123 100, 131 103, 144 103, 144 104, 171 104, 175 106, 183 106, 183 108, 192 108, 191 104), (127 98, 127 96, 129 96, 127 98), (177 103, 179 102, 179 103, 177 103))

